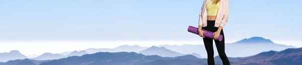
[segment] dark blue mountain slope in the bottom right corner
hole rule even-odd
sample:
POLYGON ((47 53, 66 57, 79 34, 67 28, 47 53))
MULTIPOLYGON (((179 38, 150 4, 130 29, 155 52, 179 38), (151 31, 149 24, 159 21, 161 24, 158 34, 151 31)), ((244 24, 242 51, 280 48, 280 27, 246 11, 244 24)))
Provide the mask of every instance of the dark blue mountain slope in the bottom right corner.
POLYGON ((274 64, 274 65, 299 65, 302 64, 302 47, 287 48, 281 51, 265 51, 247 57, 232 59, 241 63, 274 64))

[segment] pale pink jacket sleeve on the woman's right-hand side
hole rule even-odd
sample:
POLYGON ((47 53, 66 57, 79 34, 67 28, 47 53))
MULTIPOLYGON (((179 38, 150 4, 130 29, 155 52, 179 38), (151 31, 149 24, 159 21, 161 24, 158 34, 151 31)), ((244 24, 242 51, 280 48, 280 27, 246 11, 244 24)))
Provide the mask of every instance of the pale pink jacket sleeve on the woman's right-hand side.
POLYGON ((219 26, 224 26, 226 21, 228 21, 229 19, 229 0, 224 0, 223 2, 223 10, 224 10, 224 14, 221 20, 221 23, 219 26))

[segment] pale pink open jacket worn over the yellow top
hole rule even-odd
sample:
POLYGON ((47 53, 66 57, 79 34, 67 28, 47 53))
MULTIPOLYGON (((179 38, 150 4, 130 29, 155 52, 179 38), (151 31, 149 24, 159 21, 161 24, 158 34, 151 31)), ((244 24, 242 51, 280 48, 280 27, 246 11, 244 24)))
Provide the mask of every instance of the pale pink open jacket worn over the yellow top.
MULTIPOLYGON (((198 24, 202 27, 207 26, 207 11, 206 11, 206 2, 203 0, 201 10, 199 12, 199 21, 198 24)), ((220 5, 215 19, 215 27, 224 26, 226 21, 229 18, 229 0, 220 0, 220 5)))

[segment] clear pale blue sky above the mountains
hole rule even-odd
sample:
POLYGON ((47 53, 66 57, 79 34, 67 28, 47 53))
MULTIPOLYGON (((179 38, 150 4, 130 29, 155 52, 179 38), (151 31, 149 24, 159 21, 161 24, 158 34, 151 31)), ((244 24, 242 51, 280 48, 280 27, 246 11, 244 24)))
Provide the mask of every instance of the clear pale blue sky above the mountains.
MULTIPOLYGON (((0 0, 0 40, 201 40, 203 0, 0 0)), ((301 0, 230 0, 226 40, 302 39, 301 0)))

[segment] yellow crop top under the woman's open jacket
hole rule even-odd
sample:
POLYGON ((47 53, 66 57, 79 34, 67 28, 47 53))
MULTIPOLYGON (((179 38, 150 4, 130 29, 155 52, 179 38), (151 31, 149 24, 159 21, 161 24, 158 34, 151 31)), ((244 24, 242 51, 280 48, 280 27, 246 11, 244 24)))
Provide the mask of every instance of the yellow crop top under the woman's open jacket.
POLYGON ((207 4, 206 4, 207 15, 216 16, 218 8, 219 8, 219 4, 220 4, 220 1, 218 1, 218 3, 215 4, 214 1, 208 0, 207 4))

